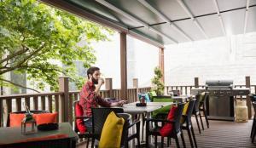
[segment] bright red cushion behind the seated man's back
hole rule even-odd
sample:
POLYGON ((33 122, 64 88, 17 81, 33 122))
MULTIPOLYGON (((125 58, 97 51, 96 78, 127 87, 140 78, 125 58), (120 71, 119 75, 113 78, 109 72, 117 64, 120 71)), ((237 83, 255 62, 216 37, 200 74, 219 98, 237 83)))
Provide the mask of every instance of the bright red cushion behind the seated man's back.
MULTIPOLYGON (((75 116, 76 117, 83 117, 84 111, 81 105, 79 103, 76 103, 75 105, 75 116)), ((84 120, 83 119, 77 119, 76 120, 77 128, 79 129, 79 132, 81 134, 84 134, 86 132, 86 127, 84 125, 84 120)))

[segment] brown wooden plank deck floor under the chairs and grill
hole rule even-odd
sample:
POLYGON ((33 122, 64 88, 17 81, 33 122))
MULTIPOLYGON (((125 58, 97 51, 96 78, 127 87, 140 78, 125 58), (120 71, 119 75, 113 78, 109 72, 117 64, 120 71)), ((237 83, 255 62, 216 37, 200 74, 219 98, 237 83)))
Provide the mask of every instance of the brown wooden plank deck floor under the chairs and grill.
MULTIPOLYGON (((204 118, 203 121, 205 121, 204 118)), ((198 132, 196 122, 193 121, 193 123, 195 137, 199 148, 256 148, 256 142, 252 144, 250 139, 252 120, 249 122, 210 120, 210 128, 205 128, 201 134, 198 132)), ((204 125, 206 126, 206 122, 204 122, 204 125)), ((186 141, 186 147, 190 147, 187 132, 184 131, 183 134, 186 141)), ((183 147, 181 139, 179 139, 179 142, 183 147)), ((79 145, 79 148, 82 147, 84 148, 85 145, 79 145)), ((176 147, 174 139, 172 139, 171 147, 176 147)))

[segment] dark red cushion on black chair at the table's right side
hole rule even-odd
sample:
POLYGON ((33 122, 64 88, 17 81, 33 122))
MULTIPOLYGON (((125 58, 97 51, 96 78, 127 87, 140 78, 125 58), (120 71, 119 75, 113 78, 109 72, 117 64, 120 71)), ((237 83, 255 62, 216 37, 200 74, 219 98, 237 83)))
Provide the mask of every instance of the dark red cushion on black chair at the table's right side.
MULTIPOLYGON (((167 120, 173 120, 175 112, 177 111, 177 106, 172 106, 172 109, 168 113, 167 120)), ((160 128, 160 135, 162 137, 166 137, 172 133, 173 124, 171 122, 167 122, 162 128, 160 128)))

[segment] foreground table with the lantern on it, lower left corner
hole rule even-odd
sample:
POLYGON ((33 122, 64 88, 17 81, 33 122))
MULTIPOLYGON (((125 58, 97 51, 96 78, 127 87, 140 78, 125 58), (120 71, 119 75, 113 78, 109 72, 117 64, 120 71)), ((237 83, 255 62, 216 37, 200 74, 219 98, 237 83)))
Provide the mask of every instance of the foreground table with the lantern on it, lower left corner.
POLYGON ((20 127, 0 128, 0 148, 75 148, 78 135, 69 122, 58 123, 55 130, 38 130, 35 134, 21 134, 20 127))

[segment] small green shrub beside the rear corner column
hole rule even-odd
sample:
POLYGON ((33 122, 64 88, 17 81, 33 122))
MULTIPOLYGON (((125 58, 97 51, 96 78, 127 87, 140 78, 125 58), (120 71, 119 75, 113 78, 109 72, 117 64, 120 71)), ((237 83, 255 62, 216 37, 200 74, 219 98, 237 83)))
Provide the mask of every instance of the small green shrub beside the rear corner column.
POLYGON ((154 77, 151 80, 151 82, 153 83, 153 88, 152 90, 158 94, 158 95, 162 95, 164 94, 164 89, 165 89, 165 85, 164 83, 162 83, 160 81, 161 77, 163 77, 162 71, 160 70, 159 67, 155 67, 154 68, 154 77))

